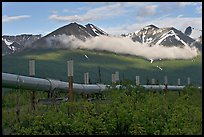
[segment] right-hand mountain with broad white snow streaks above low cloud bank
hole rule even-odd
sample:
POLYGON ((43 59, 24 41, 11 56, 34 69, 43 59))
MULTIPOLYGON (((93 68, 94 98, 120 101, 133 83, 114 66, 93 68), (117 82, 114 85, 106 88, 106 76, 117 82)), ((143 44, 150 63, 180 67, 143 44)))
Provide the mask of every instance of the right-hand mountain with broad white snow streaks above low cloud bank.
POLYGON ((133 41, 145 43, 148 45, 162 46, 189 46, 195 40, 187 36, 183 32, 173 28, 158 28, 154 25, 148 25, 143 29, 129 33, 126 37, 132 38, 133 41))

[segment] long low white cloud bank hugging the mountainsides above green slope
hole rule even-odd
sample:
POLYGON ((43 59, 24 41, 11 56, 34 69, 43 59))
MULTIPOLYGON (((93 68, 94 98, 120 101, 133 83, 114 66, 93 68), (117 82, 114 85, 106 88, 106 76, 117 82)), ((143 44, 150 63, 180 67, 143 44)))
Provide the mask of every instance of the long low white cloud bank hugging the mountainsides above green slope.
POLYGON ((47 46, 51 48, 110 51, 120 54, 142 56, 147 59, 190 59, 198 55, 198 50, 189 46, 185 46, 184 48, 159 45, 149 47, 146 44, 133 42, 130 38, 126 37, 99 36, 87 39, 84 42, 72 35, 67 36, 63 34, 47 38, 47 46))

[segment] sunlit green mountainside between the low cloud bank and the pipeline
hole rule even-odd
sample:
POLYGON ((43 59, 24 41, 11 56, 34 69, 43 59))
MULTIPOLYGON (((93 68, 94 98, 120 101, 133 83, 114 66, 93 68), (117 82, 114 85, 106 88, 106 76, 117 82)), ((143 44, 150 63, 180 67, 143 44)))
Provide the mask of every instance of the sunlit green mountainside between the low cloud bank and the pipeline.
POLYGON ((101 71, 102 83, 111 82, 111 74, 119 71, 120 79, 135 81, 139 75, 142 84, 147 79, 155 78, 163 83, 164 76, 168 76, 169 84, 187 83, 187 77, 193 84, 202 83, 202 56, 194 60, 161 60, 150 63, 149 60, 130 55, 118 55, 109 52, 69 49, 41 49, 24 51, 2 57, 2 72, 28 75, 28 60, 36 60, 36 77, 54 78, 67 81, 67 61, 74 60, 74 82, 83 83, 85 72, 89 72, 90 80, 96 83, 99 80, 98 68, 101 71), (89 59, 85 57, 88 56, 89 59), (156 66, 163 70, 158 69, 156 66))

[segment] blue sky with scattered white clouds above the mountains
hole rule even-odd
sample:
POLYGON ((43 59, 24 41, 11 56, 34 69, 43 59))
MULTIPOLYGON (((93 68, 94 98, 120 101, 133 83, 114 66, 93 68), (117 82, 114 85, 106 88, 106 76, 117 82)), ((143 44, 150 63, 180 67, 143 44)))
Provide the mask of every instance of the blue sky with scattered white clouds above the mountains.
POLYGON ((2 2, 2 35, 44 36, 71 22, 92 23, 112 35, 149 24, 202 29, 202 2, 2 2))

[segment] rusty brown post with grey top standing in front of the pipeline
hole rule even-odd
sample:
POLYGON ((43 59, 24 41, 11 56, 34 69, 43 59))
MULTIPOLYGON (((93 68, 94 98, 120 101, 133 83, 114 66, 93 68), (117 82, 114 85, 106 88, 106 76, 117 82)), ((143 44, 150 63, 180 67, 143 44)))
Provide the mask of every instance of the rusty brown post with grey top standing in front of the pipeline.
POLYGON ((73 101, 73 60, 67 61, 67 73, 69 81, 69 100, 73 101))

